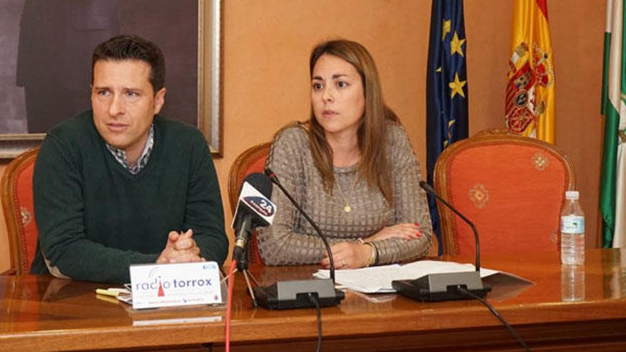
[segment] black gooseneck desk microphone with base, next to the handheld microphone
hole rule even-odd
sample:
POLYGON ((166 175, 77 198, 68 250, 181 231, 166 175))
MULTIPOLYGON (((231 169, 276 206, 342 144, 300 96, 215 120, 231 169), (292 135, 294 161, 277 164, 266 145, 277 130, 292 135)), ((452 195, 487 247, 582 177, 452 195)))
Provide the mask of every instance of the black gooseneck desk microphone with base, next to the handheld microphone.
POLYGON ((274 174, 271 169, 265 168, 265 175, 270 178, 272 183, 280 188, 280 191, 289 198, 295 208, 302 213, 302 216, 304 216, 315 229, 319 238, 322 238, 324 247, 326 247, 328 252, 331 278, 282 281, 267 287, 255 287, 253 291, 255 292, 258 304, 267 309, 309 308, 315 306, 315 302, 310 298, 310 295, 314 295, 317 296, 319 306, 336 306, 346 295, 344 292, 334 288, 335 268, 328 239, 313 219, 302 209, 302 206, 300 206, 285 187, 282 186, 276 174, 274 174))

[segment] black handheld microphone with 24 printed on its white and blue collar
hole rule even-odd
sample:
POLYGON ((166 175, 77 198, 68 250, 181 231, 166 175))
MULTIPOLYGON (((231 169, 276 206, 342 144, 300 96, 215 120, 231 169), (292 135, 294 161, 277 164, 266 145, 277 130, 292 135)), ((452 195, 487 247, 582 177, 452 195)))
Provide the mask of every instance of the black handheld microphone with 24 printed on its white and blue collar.
POLYGON ((260 172, 248 175, 239 191, 237 210, 233 217, 235 229, 235 247, 233 259, 237 262, 246 261, 245 251, 248 239, 253 230, 262 226, 272 225, 276 206, 272 196, 272 181, 260 172))

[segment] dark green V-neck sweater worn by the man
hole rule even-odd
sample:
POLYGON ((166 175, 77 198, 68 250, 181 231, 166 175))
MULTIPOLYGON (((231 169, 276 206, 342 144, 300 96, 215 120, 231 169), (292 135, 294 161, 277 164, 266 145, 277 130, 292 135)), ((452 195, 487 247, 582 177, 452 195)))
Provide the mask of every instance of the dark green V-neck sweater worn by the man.
POLYGON ((128 267, 156 262, 169 231, 193 230, 201 256, 228 252, 221 193, 203 135, 154 117, 154 149, 132 175, 112 156, 87 111, 51 129, 33 176, 38 250, 31 273, 129 282, 128 267))

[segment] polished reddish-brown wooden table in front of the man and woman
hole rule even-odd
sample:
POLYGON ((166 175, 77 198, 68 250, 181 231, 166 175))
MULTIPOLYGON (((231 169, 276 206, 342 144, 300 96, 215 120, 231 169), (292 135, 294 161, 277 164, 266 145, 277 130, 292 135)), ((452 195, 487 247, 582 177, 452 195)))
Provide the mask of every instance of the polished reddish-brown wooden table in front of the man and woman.
MULTIPOLYGON (((489 302, 533 351, 626 351, 626 250, 587 252, 584 298, 578 302, 562 300, 557 252, 484 256, 482 264, 535 282, 492 282, 489 294, 489 302)), ((309 277, 313 270, 255 267, 252 272, 270 284, 309 277)), ((202 343, 213 343, 213 351, 223 349, 223 308, 134 312, 114 299, 97 298, 95 287, 106 285, 47 276, 0 277, 0 351, 197 350, 202 343)), ((236 277, 233 351, 313 351, 316 319, 314 309, 254 309, 243 277, 236 277)), ((322 321, 322 351, 521 351, 509 331, 476 301, 421 303, 395 294, 346 292, 339 306, 322 309, 322 321)))

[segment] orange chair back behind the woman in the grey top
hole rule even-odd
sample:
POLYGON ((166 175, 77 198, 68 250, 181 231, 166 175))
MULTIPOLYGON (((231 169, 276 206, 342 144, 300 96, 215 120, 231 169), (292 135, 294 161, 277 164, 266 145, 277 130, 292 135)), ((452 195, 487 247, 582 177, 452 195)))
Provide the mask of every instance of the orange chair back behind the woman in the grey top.
MULTIPOLYGON (((245 177, 254 172, 263 172, 265 169, 265 160, 267 160, 267 153, 270 151, 271 143, 262 143, 256 146, 252 146, 243 153, 241 153, 233 165, 230 166, 230 172, 228 173, 228 201, 230 201, 230 210, 235 215, 237 210, 237 203, 239 199, 239 188, 241 183, 245 180, 245 177)), ((253 238, 248 241, 250 251, 250 264, 260 263, 263 261, 259 253, 259 245, 257 242, 256 231, 253 233, 253 238)))

